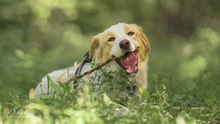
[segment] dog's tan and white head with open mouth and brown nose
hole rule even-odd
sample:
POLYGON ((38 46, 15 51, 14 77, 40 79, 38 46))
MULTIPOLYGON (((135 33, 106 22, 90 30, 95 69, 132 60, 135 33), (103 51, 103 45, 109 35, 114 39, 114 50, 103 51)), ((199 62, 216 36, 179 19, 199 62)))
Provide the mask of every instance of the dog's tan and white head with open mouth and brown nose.
POLYGON ((138 64, 147 62, 149 42, 140 27, 135 24, 119 23, 96 35, 91 43, 89 58, 105 62, 115 56, 116 63, 128 75, 136 75, 138 64))

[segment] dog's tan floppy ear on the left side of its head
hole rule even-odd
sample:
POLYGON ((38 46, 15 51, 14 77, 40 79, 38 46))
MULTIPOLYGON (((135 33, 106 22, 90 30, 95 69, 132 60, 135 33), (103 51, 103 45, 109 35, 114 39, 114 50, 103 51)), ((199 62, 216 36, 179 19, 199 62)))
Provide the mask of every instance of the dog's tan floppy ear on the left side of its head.
POLYGON ((91 59, 95 55, 95 52, 97 51, 99 47, 100 47, 100 44, 99 44, 99 38, 97 35, 93 37, 93 40, 91 42, 90 50, 89 50, 89 59, 91 59))

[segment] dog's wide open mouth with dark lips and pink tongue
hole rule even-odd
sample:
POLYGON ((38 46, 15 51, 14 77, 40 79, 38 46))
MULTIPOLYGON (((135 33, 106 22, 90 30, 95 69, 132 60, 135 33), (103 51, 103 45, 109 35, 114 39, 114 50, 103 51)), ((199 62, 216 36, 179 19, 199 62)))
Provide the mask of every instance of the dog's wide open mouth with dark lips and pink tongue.
POLYGON ((120 58, 115 59, 118 65, 123 68, 127 75, 134 76, 138 72, 138 54, 137 51, 127 52, 120 58))

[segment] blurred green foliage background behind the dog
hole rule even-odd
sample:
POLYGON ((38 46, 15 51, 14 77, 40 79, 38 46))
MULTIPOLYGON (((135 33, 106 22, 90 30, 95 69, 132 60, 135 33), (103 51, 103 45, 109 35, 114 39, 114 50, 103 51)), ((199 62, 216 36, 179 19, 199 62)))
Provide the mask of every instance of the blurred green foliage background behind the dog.
POLYGON ((0 97, 28 94, 49 72, 80 62, 92 37, 119 22, 141 26, 149 39, 149 88, 161 75, 177 87, 184 81, 215 87, 219 6, 219 0, 1 0, 0 97))

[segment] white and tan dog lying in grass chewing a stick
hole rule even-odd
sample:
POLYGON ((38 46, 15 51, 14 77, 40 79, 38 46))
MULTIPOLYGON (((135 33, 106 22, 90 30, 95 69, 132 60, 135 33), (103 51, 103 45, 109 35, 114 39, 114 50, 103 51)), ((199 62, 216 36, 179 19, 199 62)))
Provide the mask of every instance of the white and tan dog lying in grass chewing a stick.
MULTIPOLYGON (((123 70, 127 77, 135 80, 135 87, 147 89, 147 62, 150 45, 142 29, 136 24, 118 23, 93 37, 89 52, 83 62, 77 66, 54 71, 48 76, 53 82, 65 82, 68 75, 79 75, 92 69, 91 61, 103 63, 111 57, 114 61, 108 63, 107 71, 123 70)), ((94 76, 94 73, 89 76, 94 76)), ((74 82, 79 84, 79 82, 74 82)), ((73 83, 73 84, 74 84, 73 83)), ((96 82, 97 83, 97 82, 96 82)), ((78 86, 78 85, 76 85, 78 86)), ((35 97, 41 97, 48 90, 48 78, 44 77, 35 89, 35 97)), ((74 87, 76 88, 76 87, 74 87)), ((138 95, 137 88, 134 95, 138 95)))

